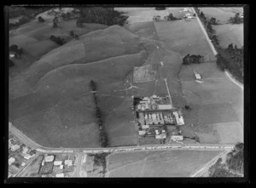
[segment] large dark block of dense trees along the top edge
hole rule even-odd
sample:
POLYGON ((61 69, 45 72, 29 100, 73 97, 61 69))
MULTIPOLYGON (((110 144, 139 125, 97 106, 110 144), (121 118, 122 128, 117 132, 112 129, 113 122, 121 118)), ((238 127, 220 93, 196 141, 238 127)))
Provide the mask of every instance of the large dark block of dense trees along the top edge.
POLYGON ((128 18, 128 16, 122 15, 122 13, 119 13, 118 11, 102 7, 82 7, 77 9, 79 9, 80 12, 80 18, 77 20, 77 26, 82 26, 82 23, 124 26, 128 18))

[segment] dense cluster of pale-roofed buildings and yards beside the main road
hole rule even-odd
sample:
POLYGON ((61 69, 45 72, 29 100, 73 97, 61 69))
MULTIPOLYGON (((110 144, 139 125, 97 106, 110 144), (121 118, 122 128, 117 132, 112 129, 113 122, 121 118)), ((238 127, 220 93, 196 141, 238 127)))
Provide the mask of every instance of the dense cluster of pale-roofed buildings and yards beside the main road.
MULTIPOLYGON (((166 139, 166 126, 177 127, 184 124, 181 111, 173 108, 168 96, 140 98, 135 106, 137 113, 138 134, 154 136, 155 139, 166 139)), ((181 133, 172 134, 171 140, 183 140, 181 133)))

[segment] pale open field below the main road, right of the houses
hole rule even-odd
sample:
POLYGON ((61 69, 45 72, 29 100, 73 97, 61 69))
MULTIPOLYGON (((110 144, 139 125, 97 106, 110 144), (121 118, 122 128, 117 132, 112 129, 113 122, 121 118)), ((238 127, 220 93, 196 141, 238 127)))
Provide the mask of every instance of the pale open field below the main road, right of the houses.
POLYGON ((135 151, 109 156, 108 177, 187 177, 222 151, 135 151))

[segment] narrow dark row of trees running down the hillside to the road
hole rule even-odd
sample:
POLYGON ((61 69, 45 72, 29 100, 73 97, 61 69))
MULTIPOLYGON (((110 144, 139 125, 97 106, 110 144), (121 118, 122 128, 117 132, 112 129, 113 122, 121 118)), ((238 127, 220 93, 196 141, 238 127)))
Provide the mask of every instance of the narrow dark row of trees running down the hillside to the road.
POLYGON ((100 128, 100 143, 102 147, 107 147, 108 146, 108 137, 107 134, 105 133, 104 127, 103 127, 103 122, 102 122, 102 113, 100 108, 98 107, 97 104, 97 96, 96 96, 96 83, 94 81, 90 81, 90 89, 93 93, 94 96, 94 101, 96 104, 96 119, 100 128))

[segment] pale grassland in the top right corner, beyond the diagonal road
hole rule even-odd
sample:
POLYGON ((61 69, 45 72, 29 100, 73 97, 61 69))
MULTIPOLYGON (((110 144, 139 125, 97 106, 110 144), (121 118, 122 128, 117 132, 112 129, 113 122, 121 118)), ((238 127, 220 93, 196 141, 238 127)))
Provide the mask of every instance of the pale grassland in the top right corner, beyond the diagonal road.
POLYGON ((243 46, 243 24, 227 24, 230 17, 234 17, 237 12, 242 13, 243 9, 236 8, 199 8, 204 12, 207 19, 215 17, 219 20, 220 25, 212 26, 216 31, 215 35, 218 37, 219 46, 221 48, 228 48, 230 43, 236 45, 237 48, 243 46))

